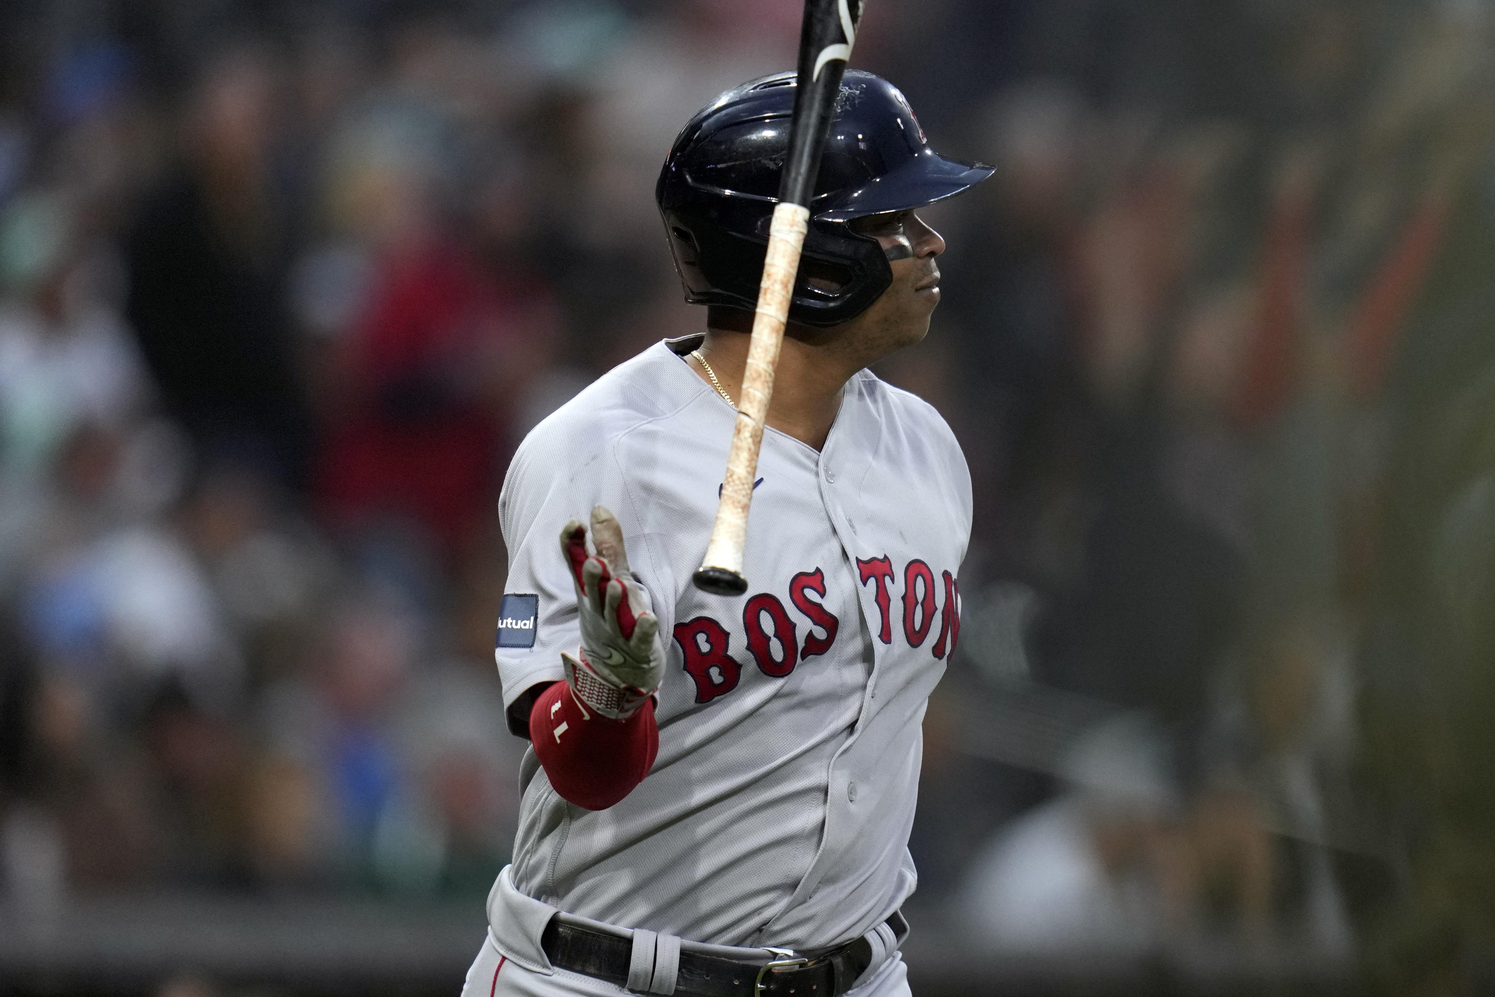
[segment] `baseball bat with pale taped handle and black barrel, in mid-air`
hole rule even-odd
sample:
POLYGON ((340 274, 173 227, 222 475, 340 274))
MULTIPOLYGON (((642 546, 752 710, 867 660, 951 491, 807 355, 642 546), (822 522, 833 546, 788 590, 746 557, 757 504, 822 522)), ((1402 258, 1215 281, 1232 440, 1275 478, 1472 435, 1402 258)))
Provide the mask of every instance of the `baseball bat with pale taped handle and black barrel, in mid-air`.
POLYGON ((762 426, 773 398, 773 371, 779 363, 783 326, 789 320, 794 278, 800 251, 810 224, 810 197, 821 166, 821 149, 831 129, 842 73, 857 40, 861 0, 804 0, 804 27, 800 30, 798 79, 794 88, 794 123, 789 151, 779 181, 779 203, 768 227, 768 251, 758 285, 748 369, 743 374, 733 448, 727 456, 727 477, 716 504, 716 523, 706 558, 695 570, 695 587, 716 595, 742 595, 748 590, 743 574, 743 547, 748 541, 748 507, 758 471, 762 426))

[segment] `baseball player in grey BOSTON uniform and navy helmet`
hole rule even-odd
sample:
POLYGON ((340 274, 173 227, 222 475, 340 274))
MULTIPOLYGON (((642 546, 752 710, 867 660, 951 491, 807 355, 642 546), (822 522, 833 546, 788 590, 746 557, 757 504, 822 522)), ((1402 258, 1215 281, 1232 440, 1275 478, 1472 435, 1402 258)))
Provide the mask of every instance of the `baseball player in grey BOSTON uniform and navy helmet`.
POLYGON ((722 94, 659 176, 707 332, 582 392, 504 483, 496 658, 532 750, 468 996, 907 993, 921 722, 960 635, 970 478, 939 414, 867 366, 921 339, 939 302, 945 244, 913 209, 991 167, 937 155, 901 93, 846 73, 758 465, 750 587, 698 592, 794 87, 722 94))

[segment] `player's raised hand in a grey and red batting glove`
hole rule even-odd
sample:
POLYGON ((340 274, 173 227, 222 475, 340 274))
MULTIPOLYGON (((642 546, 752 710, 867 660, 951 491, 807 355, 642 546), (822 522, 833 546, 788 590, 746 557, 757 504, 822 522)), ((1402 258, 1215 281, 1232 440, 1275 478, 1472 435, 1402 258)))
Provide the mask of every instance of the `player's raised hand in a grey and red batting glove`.
POLYGON ((601 713, 631 716, 664 679, 664 643, 649 592, 634 580, 623 550, 623 528, 598 505, 592 510, 592 544, 586 526, 573 519, 561 529, 561 553, 576 584, 582 620, 577 658, 561 655, 567 682, 601 713))

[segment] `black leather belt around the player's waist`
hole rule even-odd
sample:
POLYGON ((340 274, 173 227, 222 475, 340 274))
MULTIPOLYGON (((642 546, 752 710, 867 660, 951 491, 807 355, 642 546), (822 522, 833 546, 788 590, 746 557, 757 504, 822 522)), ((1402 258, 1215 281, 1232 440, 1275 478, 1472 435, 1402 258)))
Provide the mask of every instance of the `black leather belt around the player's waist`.
MULTIPOLYGON (((907 922, 897 912, 887 921, 901 940, 907 922)), ((552 918, 540 937, 540 946, 550 964, 573 973, 628 985, 632 942, 577 924, 562 924, 552 918)), ((750 951, 750 949, 749 949, 750 951)), ((674 993, 692 997, 840 997, 872 964, 872 945, 857 939, 828 951, 812 954, 758 949, 762 960, 739 961, 694 952, 689 943, 680 949, 674 993)))

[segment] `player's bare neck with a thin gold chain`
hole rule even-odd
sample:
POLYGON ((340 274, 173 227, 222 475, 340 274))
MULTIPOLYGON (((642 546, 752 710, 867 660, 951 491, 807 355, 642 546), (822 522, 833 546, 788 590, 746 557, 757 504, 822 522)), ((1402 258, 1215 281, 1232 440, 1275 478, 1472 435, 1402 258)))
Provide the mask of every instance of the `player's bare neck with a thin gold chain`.
MULTIPOLYGON (((713 326, 706 330, 701 353, 712 365, 722 389, 733 399, 740 399, 752 315, 745 315, 745 324, 749 327, 746 330, 719 329, 715 314, 712 318, 713 326)), ((768 425, 819 450, 825 445, 825 436, 840 410, 842 387, 863 366, 861 363, 852 366, 845 351, 834 348, 825 336, 785 336, 779 350, 779 366, 773 375, 768 425)), ((691 368, 707 380, 706 372, 695 363, 691 363, 691 368)))

